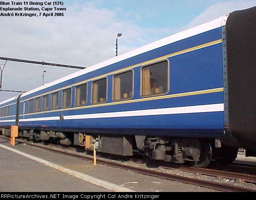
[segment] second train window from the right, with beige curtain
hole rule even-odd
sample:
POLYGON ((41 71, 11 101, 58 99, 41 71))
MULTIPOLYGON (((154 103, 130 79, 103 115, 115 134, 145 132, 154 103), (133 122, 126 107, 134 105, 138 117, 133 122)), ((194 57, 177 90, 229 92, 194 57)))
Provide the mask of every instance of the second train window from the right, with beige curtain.
POLYGON ((114 75, 113 100, 127 100, 132 98, 133 72, 128 71, 114 75))

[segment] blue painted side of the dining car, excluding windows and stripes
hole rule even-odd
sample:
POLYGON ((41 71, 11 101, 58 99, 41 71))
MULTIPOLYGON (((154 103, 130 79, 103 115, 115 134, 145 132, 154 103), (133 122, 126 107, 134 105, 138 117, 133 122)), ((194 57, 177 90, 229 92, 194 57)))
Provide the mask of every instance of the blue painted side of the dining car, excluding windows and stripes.
MULTIPOLYGON (((77 118, 65 119, 65 116, 84 115, 84 114, 104 114, 126 111, 142 111, 164 108, 181 108, 186 106, 215 105, 223 104, 223 91, 208 92, 206 94, 183 95, 186 92, 198 92, 202 90, 223 88, 222 71, 222 43, 214 44, 204 48, 199 48, 172 56, 168 59, 170 63, 170 90, 166 95, 181 94, 181 96, 170 96, 168 98, 155 98, 153 100, 144 100, 140 96, 140 73, 142 66, 132 68, 134 72, 134 94, 132 102, 123 102, 122 104, 108 104, 100 106, 91 105, 91 86, 92 81, 87 82, 88 99, 85 107, 79 109, 56 110, 54 112, 39 112, 28 114, 29 104, 24 100, 34 96, 42 95, 52 90, 75 84, 96 76, 120 70, 128 66, 133 66, 148 60, 160 58, 181 50, 194 48, 196 46, 220 40, 222 38, 221 28, 216 28, 154 50, 128 58, 121 62, 111 64, 99 70, 83 74, 76 78, 56 84, 44 90, 34 92, 20 99, 19 126, 23 129, 34 130, 59 130, 59 131, 77 131, 105 134, 148 134, 164 136, 191 136, 191 137, 224 137, 224 112, 198 112, 183 114, 158 114, 145 116, 124 116, 124 117, 106 117, 106 118, 77 118), (141 100, 142 99, 142 100, 141 100), (140 100, 140 101, 136 101, 140 100), (60 115, 64 120, 58 119, 60 115), (54 120, 50 120, 55 117, 54 120), (32 120, 29 120, 31 119, 32 120), (38 118, 44 118, 40 120, 38 118)), ((107 102, 112 103, 112 80, 113 74, 108 75, 107 102)), ((74 108, 74 96, 76 86, 72 86, 72 107, 74 108)), ((50 102, 51 102, 51 94, 50 102)), ((60 91, 60 109, 62 103, 62 91, 60 91)), ((50 105, 51 107, 51 105, 50 105)), ((13 108, 14 109, 14 108, 13 108)), ((41 98, 42 109, 42 98, 41 98)), ((49 108, 51 109, 51 108, 49 108)), ((146 111, 145 111, 146 112, 146 111)), ((15 117, 10 117, 15 119, 15 117)), ((1 119, 0 119, 1 120, 1 119)), ((10 124, 6 122, 5 124, 10 124)), ((15 122, 14 122, 15 123, 15 122)), ((2 122, 0 122, 1 126, 2 122)))

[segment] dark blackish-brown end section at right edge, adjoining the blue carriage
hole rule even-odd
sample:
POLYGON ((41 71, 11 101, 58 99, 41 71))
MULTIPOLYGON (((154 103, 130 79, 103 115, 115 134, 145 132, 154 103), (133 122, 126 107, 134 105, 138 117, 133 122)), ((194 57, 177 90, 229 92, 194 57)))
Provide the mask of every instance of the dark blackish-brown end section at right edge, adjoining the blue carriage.
POLYGON ((256 6, 230 13, 226 39, 228 122, 225 125, 239 144, 256 151, 256 6))

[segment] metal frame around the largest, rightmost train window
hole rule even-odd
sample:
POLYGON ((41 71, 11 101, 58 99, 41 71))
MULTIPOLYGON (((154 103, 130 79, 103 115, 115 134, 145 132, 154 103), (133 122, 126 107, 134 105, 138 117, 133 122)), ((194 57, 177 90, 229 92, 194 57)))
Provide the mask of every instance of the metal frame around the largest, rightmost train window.
POLYGON ((140 67, 140 97, 141 98, 148 98, 148 97, 154 97, 154 96, 164 96, 164 95, 168 94, 169 92, 170 92, 170 61, 168 59, 158 60, 158 61, 155 61, 155 62, 151 62, 149 64, 142 65, 140 67), (161 93, 161 94, 153 94, 153 95, 143 96, 142 95, 142 78, 143 78, 142 68, 153 65, 153 64, 157 64, 157 63, 160 63, 160 62, 164 62, 164 61, 167 61, 167 64, 168 64, 168 68, 167 68, 167 72, 168 72, 167 92, 161 93))

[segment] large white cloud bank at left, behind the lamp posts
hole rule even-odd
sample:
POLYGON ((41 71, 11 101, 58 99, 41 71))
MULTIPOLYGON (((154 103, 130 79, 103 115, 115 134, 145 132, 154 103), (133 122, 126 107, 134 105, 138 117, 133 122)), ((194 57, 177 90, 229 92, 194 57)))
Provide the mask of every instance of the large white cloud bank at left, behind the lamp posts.
MULTIPOLYGON (((123 12, 120 8, 102 9, 85 2, 67 7, 64 17, 1 17, 0 56, 91 66, 115 56, 118 32, 123 34, 119 38, 119 54, 170 34, 170 29, 150 30, 136 25, 139 15, 132 18, 131 13, 127 13, 129 20, 121 21, 118 14, 123 12)), ((77 71, 7 62, 3 89, 36 88, 42 84, 43 70, 47 70, 46 83, 77 71)), ((0 92, 0 101, 14 95, 0 92)))

